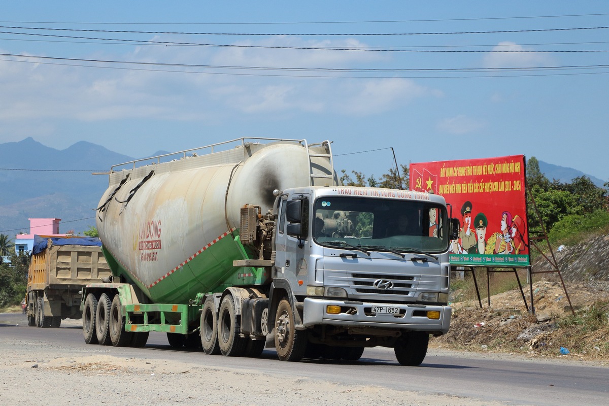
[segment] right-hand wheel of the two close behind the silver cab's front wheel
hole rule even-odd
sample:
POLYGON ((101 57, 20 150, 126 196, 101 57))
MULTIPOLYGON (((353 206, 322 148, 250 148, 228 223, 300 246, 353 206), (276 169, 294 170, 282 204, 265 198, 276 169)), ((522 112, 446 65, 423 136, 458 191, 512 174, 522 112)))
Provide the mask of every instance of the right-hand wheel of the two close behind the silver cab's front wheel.
POLYGON ((237 320, 233 296, 224 296, 218 312, 218 346, 225 357, 242 357, 247 338, 241 337, 241 325, 237 320))

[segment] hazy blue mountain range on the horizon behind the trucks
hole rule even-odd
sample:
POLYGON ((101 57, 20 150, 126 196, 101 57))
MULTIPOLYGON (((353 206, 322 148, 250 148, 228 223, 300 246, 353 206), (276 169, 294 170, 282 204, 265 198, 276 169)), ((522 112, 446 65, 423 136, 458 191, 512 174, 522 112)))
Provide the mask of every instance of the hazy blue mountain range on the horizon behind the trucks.
MULTIPOLYGON (((133 158, 86 141, 65 150, 31 137, 0 144, 0 234, 29 234, 32 218, 62 219, 60 233, 82 234, 95 225, 95 209, 108 186, 107 175, 93 173, 107 173, 112 165, 140 158, 146 157, 133 158)), ((539 167, 549 180, 587 176, 599 187, 604 183, 568 167, 543 161, 539 167)))

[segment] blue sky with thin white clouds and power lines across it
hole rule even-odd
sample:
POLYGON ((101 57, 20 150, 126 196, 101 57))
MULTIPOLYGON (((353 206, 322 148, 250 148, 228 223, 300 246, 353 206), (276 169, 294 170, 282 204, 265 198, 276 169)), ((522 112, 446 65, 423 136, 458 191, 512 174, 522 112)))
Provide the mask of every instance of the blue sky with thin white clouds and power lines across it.
POLYGON ((27 1, 0 20, 0 144, 329 139, 338 170, 377 177, 393 147, 609 180, 605 1, 27 1))

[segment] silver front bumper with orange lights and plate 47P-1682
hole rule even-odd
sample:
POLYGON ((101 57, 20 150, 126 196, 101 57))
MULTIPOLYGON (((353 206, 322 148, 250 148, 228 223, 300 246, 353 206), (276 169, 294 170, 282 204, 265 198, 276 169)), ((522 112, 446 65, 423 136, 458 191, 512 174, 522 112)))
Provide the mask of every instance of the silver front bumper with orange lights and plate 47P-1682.
POLYGON ((406 329, 411 331, 429 331, 437 334, 448 332, 452 308, 450 306, 427 306, 421 304, 390 304, 400 307, 400 315, 371 313, 375 305, 387 303, 361 303, 331 299, 305 298, 303 324, 305 327, 317 324, 346 327, 380 327, 383 329, 406 329), (340 306, 346 312, 326 313, 328 306, 340 306), (428 318, 426 313, 440 312, 440 318, 428 318))

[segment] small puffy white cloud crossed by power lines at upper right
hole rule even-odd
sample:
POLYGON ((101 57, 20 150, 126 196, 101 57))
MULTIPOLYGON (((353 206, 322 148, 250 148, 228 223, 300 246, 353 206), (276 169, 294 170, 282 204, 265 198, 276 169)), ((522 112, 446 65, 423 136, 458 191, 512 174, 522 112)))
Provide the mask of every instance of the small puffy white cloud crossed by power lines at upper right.
POLYGON ((510 41, 500 42, 493 47, 496 53, 484 57, 485 68, 527 68, 536 66, 548 66, 552 59, 544 54, 535 54, 530 47, 524 47, 510 41), (499 52, 504 51, 504 52, 499 52))

